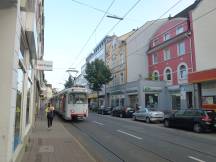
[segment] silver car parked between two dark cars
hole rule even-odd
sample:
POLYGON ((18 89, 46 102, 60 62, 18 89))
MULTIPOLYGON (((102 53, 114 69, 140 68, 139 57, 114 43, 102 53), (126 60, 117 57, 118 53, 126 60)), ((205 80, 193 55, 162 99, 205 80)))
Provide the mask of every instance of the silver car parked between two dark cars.
POLYGON ((147 123, 161 122, 164 120, 164 113, 156 109, 140 108, 133 113, 134 120, 143 120, 147 123))

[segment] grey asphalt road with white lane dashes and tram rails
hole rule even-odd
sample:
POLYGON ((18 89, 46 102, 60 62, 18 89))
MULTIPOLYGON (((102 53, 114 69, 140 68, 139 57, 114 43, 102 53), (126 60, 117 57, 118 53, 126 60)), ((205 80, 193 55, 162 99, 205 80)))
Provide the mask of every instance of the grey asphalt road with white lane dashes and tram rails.
POLYGON ((64 126, 96 161, 216 162, 216 133, 196 134, 95 113, 64 126))

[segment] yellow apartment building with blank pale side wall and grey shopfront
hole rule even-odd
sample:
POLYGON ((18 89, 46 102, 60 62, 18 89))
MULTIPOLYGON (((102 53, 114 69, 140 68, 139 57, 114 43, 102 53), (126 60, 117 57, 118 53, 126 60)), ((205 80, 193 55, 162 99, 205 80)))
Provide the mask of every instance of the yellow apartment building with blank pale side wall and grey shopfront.
MULTIPOLYGON (((160 94, 165 96, 161 88, 164 83, 146 80, 148 77, 146 54, 149 42, 165 21, 167 19, 146 22, 142 27, 127 34, 115 36, 107 44, 106 63, 113 74, 113 80, 107 86, 110 106, 135 107, 136 104, 145 106, 146 90, 150 90, 148 87, 151 87, 150 91, 160 91, 160 94)), ((165 107, 164 104, 160 101, 159 106, 165 107)))

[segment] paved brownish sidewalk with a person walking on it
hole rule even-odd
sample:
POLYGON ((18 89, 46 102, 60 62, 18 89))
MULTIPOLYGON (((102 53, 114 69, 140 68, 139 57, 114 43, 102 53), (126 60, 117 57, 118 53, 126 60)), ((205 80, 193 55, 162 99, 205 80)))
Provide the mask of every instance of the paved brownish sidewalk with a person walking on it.
POLYGON ((95 162, 96 160, 55 117, 51 130, 47 121, 38 119, 30 136, 30 146, 22 162, 95 162))

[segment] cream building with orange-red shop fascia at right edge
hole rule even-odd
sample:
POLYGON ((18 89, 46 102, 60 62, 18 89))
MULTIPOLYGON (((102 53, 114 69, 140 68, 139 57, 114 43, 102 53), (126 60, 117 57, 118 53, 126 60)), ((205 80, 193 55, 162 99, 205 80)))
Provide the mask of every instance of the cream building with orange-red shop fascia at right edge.
POLYGON ((189 82, 196 89, 196 107, 216 110, 216 1, 201 0, 191 13, 196 71, 189 82), (202 97, 201 97, 202 96, 202 97))

